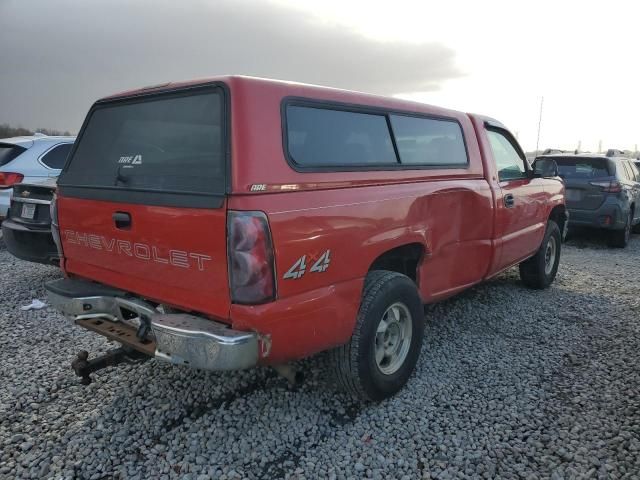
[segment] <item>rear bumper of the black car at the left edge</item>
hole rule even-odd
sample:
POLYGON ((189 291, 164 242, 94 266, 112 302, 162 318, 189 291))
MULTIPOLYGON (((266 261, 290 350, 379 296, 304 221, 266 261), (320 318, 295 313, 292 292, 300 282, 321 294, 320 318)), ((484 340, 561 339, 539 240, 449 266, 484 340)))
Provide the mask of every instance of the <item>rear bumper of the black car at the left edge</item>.
POLYGON ((13 256, 29 262, 58 265, 60 256, 51 230, 29 228, 7 219, 2 222, 2 237, 13 256))

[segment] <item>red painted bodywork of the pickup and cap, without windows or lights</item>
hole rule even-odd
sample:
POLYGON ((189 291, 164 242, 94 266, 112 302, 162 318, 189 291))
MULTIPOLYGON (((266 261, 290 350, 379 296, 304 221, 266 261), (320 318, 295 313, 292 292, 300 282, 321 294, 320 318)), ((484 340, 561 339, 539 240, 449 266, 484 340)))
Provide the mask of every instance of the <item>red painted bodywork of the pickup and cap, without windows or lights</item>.
MULTIPOLYGON (((533 254, 551 209, 563 204, 561 182, 498 182, 483 120, 465 113, 372 95, 260 79, 223 77, 231 98, 231 191, 220 209, 123 205, 61 198, 61 230, 115 237, 208 255, 205 268, 86 248, 64 240, 66 272, 160 303, 200 312, 271 337, 265 363, 301 358, 346 342, 364 277, 389 249, 424 248, 418 286, 425 302, 450 296, 533 254), (466 136, 467 169, 299 173, 286 162, 280 106, 288 96, 436 114, 457 119, 466 136), (266 192, 249 192, 266 184, 266 192), (506 209, 512 193, 516 206, 506 209), (226 210, 267 214, 275 248, 277 300, 232 305, 226 254, 226 210), (131 213, 129 231, 115 211, 131 213), (283 274, 301 256, 330 250, 329 268, 299 279, 283 274)), ((170 85, 176 86, 177 84, 170 85)), ((169 87, 169 86, 168 86, 169 87)), ((167 88, 167 87, 165 87, 167 88)), ((144 250, 144 249, 143 249, 144 250)), ((307 265, 309 269, 311 264, 307 265)))

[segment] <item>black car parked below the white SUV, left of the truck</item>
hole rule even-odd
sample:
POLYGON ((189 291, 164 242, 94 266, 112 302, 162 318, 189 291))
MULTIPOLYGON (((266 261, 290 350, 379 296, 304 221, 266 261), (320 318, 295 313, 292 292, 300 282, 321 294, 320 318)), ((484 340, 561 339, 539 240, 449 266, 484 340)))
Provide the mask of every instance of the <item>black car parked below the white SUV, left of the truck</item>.
POLYGON ((9 252, 30 262, 59 265, 60 256, 51 235, 50 206, 56 179, 13 187, 11 207, 2 222, 2 236, 9 252))

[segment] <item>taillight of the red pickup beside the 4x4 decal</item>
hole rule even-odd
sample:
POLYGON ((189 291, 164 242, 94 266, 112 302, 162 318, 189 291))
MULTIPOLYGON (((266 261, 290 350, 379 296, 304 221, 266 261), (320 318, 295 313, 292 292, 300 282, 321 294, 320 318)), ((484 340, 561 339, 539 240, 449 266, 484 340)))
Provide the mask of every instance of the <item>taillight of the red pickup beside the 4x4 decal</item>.
POLYGON ((227 222, 231 300, 242 304, 274 300, 273 245, 266 215, 229 211, 227 222))

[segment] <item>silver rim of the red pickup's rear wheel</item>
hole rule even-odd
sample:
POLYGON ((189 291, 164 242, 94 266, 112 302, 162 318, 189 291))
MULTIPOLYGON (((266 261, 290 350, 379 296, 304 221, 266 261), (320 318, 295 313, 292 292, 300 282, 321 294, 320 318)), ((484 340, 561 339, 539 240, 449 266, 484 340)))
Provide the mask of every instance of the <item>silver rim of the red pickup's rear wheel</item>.
POLYGON ((404 364, 411 346, 413 318, 404 303, 387 308, 376 329, 375 354, 378 369, 392 375, 404 364))

